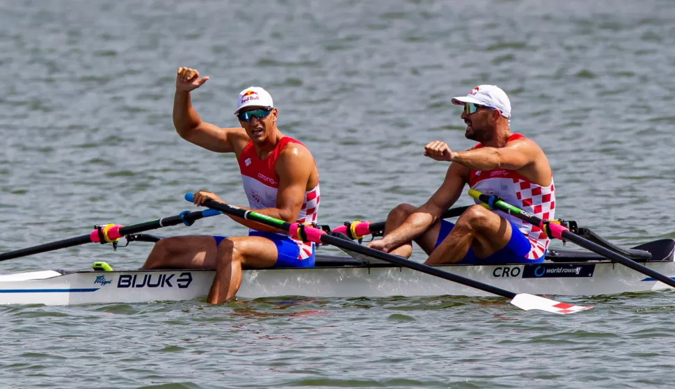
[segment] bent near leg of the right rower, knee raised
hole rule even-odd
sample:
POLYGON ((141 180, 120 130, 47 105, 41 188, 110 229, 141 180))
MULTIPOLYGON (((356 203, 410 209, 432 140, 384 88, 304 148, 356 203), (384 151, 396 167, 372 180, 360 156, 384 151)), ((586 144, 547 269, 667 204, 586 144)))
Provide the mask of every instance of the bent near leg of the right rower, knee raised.
POLYGON ((459 217, 443 242, 424 264, 456 263, 473 248, 476 257, 485 258, 500 251, 511 239, 511 223, 479 205, 459 217))

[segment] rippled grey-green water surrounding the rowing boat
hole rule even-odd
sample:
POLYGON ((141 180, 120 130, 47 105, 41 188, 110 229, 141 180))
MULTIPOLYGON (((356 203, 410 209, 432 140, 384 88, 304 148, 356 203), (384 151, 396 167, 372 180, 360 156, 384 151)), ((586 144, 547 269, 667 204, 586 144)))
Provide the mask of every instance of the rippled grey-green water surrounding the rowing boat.
MULTIPOLYGON (((187 191, 246 203, 233 157, 173 129, 178 66, 211 77, 193 100, 223 127, 239 90, 271 92, 282 131, 315 154, 322 223, 424 202, 446 165, 422 146, 470 147, 450 97, 489 83, 546 151, 557 216, 626 246, 675 237, 673 47, 668 0, 0 1, 0 251, 174 215, 192 209, 187 191)), ((244 231, 211 218, 161 233, 244 231)), ((148 250, 79 246, 0 272, 138 267, 148 250)), ((452 296, 5 306, 0 387, 672 386, 675 293, 565 300, 596 308, 559 317, 452 296)))

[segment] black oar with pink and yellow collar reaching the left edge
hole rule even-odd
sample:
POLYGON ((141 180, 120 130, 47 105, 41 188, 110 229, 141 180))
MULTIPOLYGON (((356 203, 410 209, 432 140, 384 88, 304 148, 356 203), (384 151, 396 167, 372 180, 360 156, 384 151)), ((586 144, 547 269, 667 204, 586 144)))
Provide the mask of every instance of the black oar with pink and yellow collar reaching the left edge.
POLYGON ((213 209, 206 209, 198 212, 181 212, 176 216, 168 216, 166 218, 157 219, 153 221, 145 221, 143 223, 122 226, 116 224, 97 225, 95 230, 87 235, 80 235, 79 237, 72 237, 59 241, 52 241, 50 243, 40 244, 38 246, 20 248, 15 251, 8 251, 0 254, 0 261, 12 260, 18 257, 25 257, 26 255, 33 255, 38 253, 45 253, 46 251, 58 250, 59 248, 67 248, 72 246, 79 246, 87 243, 106 244, 118 241, 121 237, 129 234, 137 234, 138 232, 157 230, 157 228, 168 227, 170 225, 177 225, 184 223, 185 225, 192 225, 196 220, 216 216, 221 212, 213 209))

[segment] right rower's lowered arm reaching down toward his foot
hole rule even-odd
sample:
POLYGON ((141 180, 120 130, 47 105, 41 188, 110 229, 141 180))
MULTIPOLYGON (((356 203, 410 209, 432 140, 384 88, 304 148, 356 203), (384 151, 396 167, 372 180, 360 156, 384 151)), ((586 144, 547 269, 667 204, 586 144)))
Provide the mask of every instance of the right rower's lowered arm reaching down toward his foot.
POLYGON ((467 182, 468 168, 460 164, 450 164, 445 173, 445 180, 427 203, 424 203, 408 219, 384 237, 387 246, 396 248, 422 235, 431 225, 436 223, 445 209, 452 206, 467 182))

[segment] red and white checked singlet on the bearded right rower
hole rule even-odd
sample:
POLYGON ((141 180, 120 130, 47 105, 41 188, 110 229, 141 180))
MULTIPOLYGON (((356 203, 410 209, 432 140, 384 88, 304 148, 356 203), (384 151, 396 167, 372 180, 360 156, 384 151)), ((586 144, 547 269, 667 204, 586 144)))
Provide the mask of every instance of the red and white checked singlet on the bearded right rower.
MULTIPOLYGON (((508 142, 516 139, 523 139, 522 134, 513 134, 508 142)), ((482 143, 478 143, 475 148, 482 148, 482 143)), ((534 214, 539 219, 548 220, 555 216, 555 189, 553 187, 553 177, 549 186, 540 186, 530 182, 527 178, 518 174, 516 170, 493 169, 487 171, 469 170, 469 186, 482 193, 495 194, 509 204, 534 214)), ((480 203, 476 201, 476 203, 480 203)), ((531 260, 539 259, 548 248, 550 239, 541 231, 537 225, 532 225, 526 221, 506 214, 505 212, 495 211, 505 219, 518 225, 523 235, 530 241, 530 253, 527 258, 531 260)))

